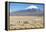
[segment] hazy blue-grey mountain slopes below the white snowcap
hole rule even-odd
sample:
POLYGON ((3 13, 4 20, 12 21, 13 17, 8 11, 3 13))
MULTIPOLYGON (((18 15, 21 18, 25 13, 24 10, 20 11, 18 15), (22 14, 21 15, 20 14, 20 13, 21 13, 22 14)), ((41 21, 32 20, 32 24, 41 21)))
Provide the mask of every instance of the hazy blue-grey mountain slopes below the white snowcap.
POLYGON ((43 11, 34 8, 10 12, 10 16, 43 16, 43 15, 44 15, 43 11))

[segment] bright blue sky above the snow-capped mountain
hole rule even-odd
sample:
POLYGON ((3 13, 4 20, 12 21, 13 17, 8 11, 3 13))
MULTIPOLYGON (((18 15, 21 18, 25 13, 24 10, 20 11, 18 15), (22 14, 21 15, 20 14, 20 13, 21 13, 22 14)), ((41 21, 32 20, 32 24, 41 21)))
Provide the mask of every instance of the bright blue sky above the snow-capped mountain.
POLYGON ((30 7, 31 5, 38 7, 38 9, 40 10, 43 10, 44 7, 43 4, 10 3, 10 12, 24 10, 25 8, 30 7))

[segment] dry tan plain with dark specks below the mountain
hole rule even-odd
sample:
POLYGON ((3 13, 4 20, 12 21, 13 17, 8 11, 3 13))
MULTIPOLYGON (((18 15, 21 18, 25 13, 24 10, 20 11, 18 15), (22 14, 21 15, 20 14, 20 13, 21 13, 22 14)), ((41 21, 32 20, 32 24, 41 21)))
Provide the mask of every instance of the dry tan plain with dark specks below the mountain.
POLYGON ((43 16, 10 16, 10 29, 42 28, 43 16))

